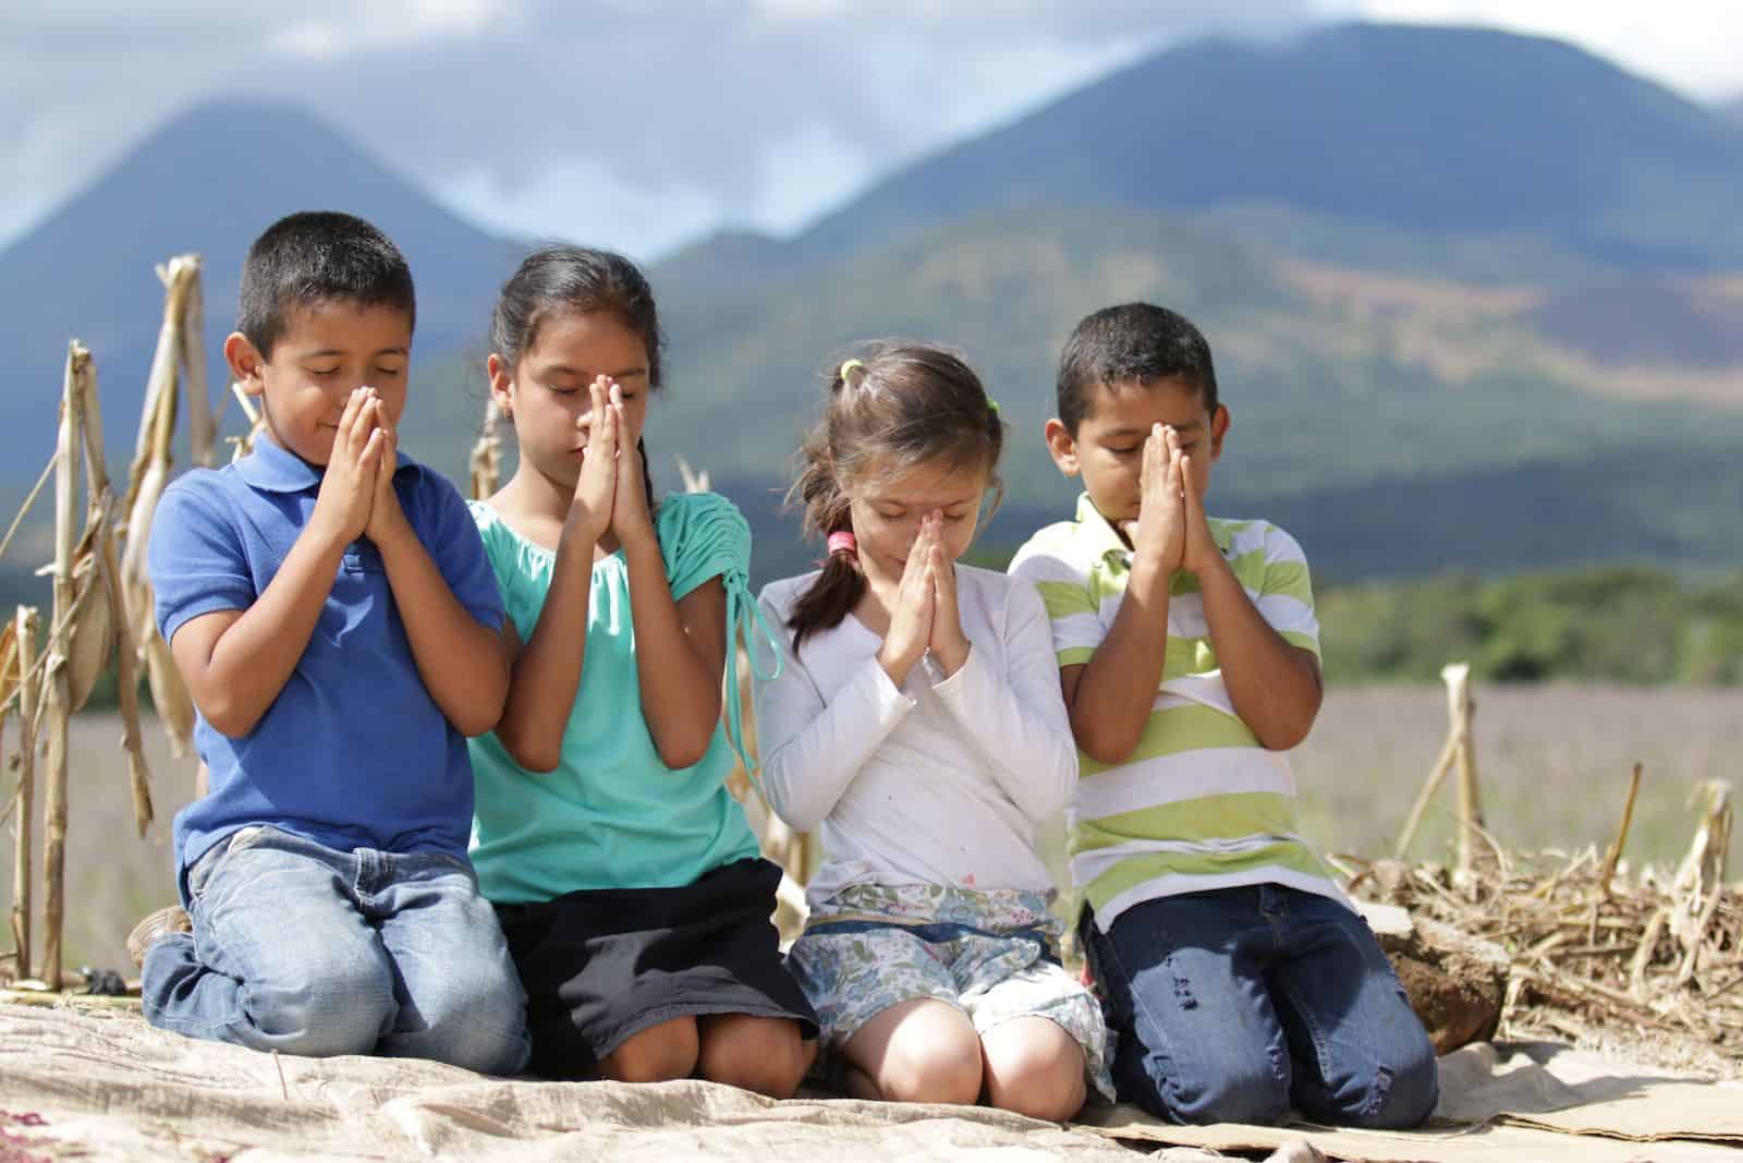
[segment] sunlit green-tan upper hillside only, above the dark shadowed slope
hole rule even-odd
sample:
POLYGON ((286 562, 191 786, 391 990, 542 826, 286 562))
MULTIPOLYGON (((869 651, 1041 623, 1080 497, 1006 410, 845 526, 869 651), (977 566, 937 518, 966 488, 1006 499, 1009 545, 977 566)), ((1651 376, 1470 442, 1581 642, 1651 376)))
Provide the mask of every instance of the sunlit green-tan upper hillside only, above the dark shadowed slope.
MULTIPOLYGON (((1030 441, 1067 331, 1129 298, 1204 326, 1239 432, 1229 466, 1258 474, 1260 490, 1584 453, 1637 441, 1640 425, 1670 441, 1743 431, 1727 427, 1743 424, 1743 356, 1719 338, 1743 333, 1743 296, 1726 281, 1680 289, 1712 312, 1687 350, 1623 359, 1602 350, 1605 335, 1640 340, 1680 317, 1675 303, 1633 330, 1577 328, 1563 317, 1583 302, 1572 293, 1302 263, 1173 214, 1117 209, 985 213, 741 293, 732 310, 664 267, 654 277, 673 338, 669 415, 697 434, 741 432, 729 446, 695 445, 732 476, 777 473, 817 408, 817 373, 851 340, 878 335, 959 345, 1030 441), (1720 410, 1658 406, 1675 399, 1720 410), (746 427, 746 415, 760 422, 746 427)), ((1039 445, 1030 452, 1042 464, 1039 445)), ((1030 469, 1016 462, 1009 476, 1021 493, 1030 469)))

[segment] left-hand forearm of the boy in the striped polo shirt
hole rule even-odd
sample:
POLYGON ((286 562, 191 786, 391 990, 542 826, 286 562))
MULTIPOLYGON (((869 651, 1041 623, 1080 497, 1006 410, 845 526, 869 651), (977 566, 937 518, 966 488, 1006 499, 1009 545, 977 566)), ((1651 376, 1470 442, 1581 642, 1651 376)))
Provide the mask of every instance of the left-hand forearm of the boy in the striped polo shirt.
POLYGON ((1077 746, 1096 762, 1126 762, 1143 738, 1168 650, 1170 581, 1171 570, 1133 561, 1107 638, 1065 690, 1077 746))

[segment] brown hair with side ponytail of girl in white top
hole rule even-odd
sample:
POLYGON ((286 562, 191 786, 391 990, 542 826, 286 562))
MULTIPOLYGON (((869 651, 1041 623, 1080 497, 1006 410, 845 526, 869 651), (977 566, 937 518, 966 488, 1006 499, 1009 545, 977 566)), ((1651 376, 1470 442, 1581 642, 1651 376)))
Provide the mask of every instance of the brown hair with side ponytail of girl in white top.
MULTIPOLYGON (((955 354, 929 343, 866 343, 830 371, 828 385, 830 403, 800 448, 798 479, 786 495, 804 506, 805 535, 851 534, 852 486, 939 460, 950 469, 985 467, 997 506, 1004 424, 980 377, 955 354)), ((865 588, 858 556, 830 553, 786 619, 793 650, 840 626, 865 588)))

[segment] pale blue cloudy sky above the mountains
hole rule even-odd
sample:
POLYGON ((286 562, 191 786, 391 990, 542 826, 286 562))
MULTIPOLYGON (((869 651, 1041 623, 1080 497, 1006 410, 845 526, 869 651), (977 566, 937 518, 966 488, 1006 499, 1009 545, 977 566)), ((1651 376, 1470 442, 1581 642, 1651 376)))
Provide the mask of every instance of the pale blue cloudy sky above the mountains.
MULTIPOLYGON (((790 232, 868 180, 1185 37, 1326 19, 1565 37, 1743 92, 1734 0, 12 0, 0 244, 200 98, 286 98, 460 214, 645 258, 790 232)), ((214 146, 214 148, 221 148, 214 146)))

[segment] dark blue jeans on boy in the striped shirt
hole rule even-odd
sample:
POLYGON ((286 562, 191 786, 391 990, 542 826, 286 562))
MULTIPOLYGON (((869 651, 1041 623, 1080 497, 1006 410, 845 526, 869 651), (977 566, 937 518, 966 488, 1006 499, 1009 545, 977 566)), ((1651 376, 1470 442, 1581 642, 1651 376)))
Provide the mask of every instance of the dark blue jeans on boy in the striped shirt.
POLYGON ((1114 1085, 1175 1123, 1403 1128, 1440 1098, 1434 1048, 1367 922, 1264 884, 1133 905, 1082 943, 1117 1032, 1114 1085))

